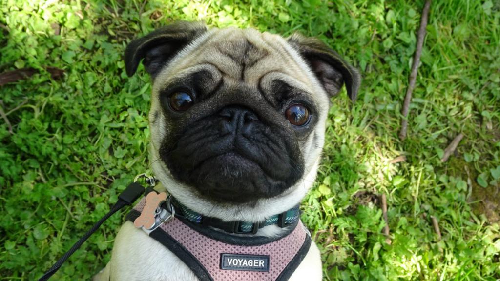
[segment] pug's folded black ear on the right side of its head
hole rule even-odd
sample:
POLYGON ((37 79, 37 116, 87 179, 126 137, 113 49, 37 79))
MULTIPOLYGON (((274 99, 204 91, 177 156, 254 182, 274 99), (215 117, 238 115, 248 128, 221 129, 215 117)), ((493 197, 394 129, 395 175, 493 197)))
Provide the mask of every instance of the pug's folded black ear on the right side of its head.
POLYGON ((287 40, 309 64, 326 93, 335 95, 345 82, 350 99, 356 99, 361 76, 338 53, 319 39, 304 37, 299 33, 290 35, 287 40))

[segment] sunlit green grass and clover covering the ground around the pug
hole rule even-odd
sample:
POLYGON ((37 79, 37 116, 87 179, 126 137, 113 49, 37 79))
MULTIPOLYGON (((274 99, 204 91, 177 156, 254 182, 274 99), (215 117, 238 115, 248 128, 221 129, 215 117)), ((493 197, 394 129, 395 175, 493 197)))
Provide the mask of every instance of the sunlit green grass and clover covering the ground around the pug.
MULTIPOLYGON (((134 36, 176 19, 319 36, 358 67, 358 101, 333 100, 324 157, 302 204, 325 280, 500 279, 500 2, 433 1, 408 137, 397 133, 423 1, 5 0, 0 71, 0 272, 39 277, 116 201, 146 159, 149 77, 125 75, 134 36), (57 34, 58 33, 58 34, 57 34), (64 69, 58 80, 43 67, 64 69), (11 111, 17 105, 22 106, 11 111), (459 132, 457 151, 440 162, 459 132), (405 155, 399 163, 390 161, 405 155), (391 243, 378 194, 387 194, 391 243), (438 240, 430 216, 439 222, 438 240)), ((111 217, 54 280, 110 257, 111 217)))

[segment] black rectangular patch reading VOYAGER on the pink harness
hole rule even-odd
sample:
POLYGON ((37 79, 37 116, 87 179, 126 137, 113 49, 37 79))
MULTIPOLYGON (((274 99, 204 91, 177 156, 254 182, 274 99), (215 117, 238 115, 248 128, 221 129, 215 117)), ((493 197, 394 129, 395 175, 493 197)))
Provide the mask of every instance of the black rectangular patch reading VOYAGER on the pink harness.
POLYGON ((220 254, 220 269, 269 271, 269 256, 254 254, 220 254))

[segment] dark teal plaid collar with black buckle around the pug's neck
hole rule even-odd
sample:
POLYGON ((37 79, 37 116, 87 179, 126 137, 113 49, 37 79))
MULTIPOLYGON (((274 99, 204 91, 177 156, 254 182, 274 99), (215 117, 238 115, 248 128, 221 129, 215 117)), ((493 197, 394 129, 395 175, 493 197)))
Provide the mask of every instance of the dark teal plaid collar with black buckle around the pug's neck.
POLYGON ((184 206, 177 199, 172 197, 172 206, 175 208, 175 217, 180 220, 188 220, 192 223, 202 225, 204 227, 214 227, 228 233, 239 234, 255 234, 259 228, 268 225, 277 225, 278 227, 286 227, 297 222, 300 217, 298 205, 288 209, 282 213, 272 215, 260 222, 249 221, 222 221, 220 218, 203 216, 188 207, 184 206))

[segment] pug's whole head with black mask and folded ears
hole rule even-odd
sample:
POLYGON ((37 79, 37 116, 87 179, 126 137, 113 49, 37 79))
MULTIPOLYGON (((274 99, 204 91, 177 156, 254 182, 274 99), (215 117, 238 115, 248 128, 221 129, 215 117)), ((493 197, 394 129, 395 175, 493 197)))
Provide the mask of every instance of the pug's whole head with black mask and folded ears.
POLYGON ((317 39, 199 22, 134 39, 128 75, 141 60, 153 81, 153 170, 195 208, 296 204, 315 177, 329 98, 345 84, 354 100, 360 80, 317 39))

